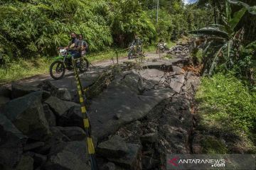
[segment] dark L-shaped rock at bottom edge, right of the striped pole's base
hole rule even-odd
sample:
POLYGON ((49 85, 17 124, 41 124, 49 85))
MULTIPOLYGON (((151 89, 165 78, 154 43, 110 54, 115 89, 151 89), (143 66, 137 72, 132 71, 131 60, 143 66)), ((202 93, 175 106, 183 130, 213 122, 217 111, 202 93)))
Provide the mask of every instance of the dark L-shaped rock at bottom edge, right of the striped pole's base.
POLYGON ((127 144, 128 152, 124 154, 123 157, 119 158, 110 158, 110 162, 114 162, 115 164, 119 164, 120 166, 127 169, 142 169, 142 165, 140 164, 140 157, 142 152, 142 147, 136 144, 127 144))

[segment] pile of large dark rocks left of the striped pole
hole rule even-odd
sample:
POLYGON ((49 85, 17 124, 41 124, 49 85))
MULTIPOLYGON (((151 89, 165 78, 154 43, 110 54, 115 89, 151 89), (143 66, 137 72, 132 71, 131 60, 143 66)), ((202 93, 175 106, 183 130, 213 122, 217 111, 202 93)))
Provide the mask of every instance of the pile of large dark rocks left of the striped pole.
POLYGON ((68 90, 13 84, 0 95, 0 169, 90 169, 68 90))

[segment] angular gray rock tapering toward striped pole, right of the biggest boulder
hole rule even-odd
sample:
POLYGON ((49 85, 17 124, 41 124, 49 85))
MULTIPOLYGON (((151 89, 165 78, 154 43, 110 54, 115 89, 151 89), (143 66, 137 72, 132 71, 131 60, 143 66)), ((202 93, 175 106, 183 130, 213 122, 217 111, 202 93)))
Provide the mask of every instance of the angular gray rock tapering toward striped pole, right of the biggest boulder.
POLYGON ((80 106, 78 103, 73 103, 70 101, 62 101, 57 97, 50 96, 45 103, 47 103, 51 110, 54 111, 55 115, 60 117, 63 115, 66 111, 68 111, 73 106, 80 106))

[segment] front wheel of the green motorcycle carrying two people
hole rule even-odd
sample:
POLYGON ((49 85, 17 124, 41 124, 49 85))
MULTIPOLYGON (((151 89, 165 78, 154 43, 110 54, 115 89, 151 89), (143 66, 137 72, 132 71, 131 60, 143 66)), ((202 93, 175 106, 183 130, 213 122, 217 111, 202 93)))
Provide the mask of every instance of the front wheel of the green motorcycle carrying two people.
POLYGON ((55 80, 62 79, 65 74, 65 65, 61 61, 55 61, 50 64, 50 77, 55 80))

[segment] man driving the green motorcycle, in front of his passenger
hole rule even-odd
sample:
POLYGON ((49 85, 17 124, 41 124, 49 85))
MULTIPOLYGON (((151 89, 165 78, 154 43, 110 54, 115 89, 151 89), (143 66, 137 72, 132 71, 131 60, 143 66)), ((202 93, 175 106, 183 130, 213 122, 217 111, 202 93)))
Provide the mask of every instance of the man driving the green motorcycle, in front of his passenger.
POLYGON ((71 40, 68 44, 68 47, 65 47, 66 50, 70 49, 70 54, 73 59, 81 57, 81 44, 80 40, 78 40, 77 35, 75 33, 71 33, 71 40))

